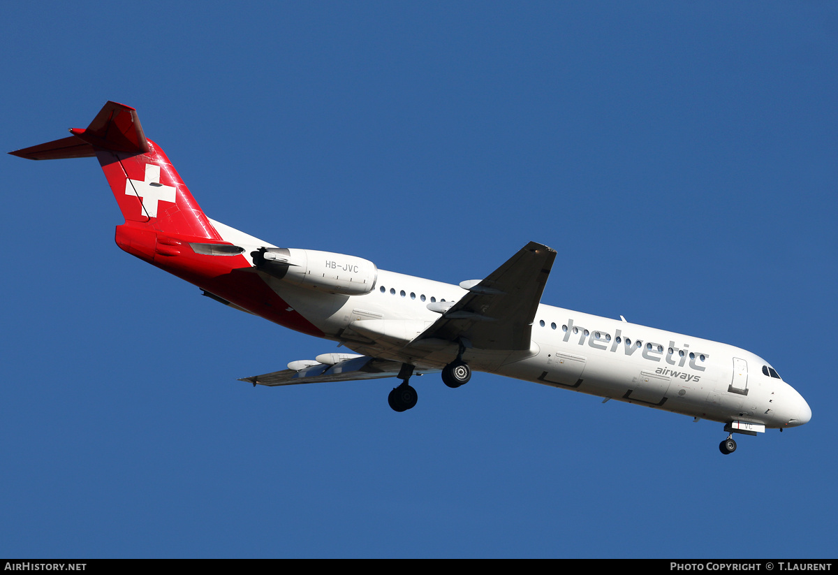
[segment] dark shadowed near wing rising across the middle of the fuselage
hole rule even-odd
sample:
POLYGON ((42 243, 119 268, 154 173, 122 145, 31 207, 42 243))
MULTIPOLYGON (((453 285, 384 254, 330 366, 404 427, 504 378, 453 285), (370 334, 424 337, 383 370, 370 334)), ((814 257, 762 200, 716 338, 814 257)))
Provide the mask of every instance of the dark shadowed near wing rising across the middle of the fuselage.
POLYGON ((411 345, 468 339, 482 350, 529 350, 535 310, 555 259, 556 250, 530 241, 484 280, 462 282, 469 293, 452 307, 429 304, 442 317, 411 345))

